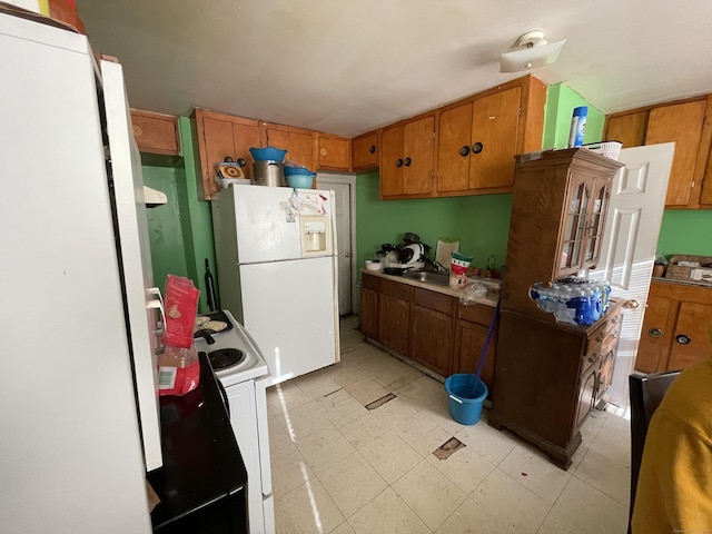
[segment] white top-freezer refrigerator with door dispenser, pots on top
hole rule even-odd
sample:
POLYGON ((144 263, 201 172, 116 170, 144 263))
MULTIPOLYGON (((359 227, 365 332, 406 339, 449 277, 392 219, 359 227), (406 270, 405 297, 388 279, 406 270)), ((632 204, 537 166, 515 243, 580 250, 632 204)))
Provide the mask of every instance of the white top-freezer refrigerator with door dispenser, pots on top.
POLYGON ((338 362, 334 191, 238 185, 211 207, 220 305, 259 347, 267 385, 338 362))

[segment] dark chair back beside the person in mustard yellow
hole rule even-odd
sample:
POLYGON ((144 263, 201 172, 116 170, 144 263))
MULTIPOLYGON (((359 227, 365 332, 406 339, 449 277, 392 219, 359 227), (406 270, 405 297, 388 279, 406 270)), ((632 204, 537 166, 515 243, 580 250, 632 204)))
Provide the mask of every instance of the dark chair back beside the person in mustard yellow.
POLYGON ((633 373, 627 377, 631 397, 631 510, 627 526, 629 534, 631 533, 630 518, 633 517, 635 488, 637 487, 637 475, 641 471, 647 425, 650 425, 650 419, 665 396, 665 392, 680 373, 680 370, 653 374, 633 373))

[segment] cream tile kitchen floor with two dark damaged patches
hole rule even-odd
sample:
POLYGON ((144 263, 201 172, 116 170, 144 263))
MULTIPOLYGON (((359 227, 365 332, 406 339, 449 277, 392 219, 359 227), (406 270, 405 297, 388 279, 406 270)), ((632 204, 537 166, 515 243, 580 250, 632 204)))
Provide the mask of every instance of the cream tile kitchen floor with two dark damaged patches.
POLYGON ((443 384, 357 324, 342 320, 339 364, 268 389, 278 534, 626 531, 629 421, 594 412, 564 472, 488 426, 486 409, 476 425, 453 421, 443 384), (465 446, 438 459, 452 437, 465 446))

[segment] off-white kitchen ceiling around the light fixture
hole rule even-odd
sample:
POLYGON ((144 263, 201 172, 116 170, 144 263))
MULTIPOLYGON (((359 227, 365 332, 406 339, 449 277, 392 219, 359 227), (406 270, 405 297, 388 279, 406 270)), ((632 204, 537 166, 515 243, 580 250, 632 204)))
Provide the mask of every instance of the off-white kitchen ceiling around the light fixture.
POLYGON ((204 107, 353 137, 479 92, 522 33, 567 39, 533 73, 604 113, 712 92, 710 0, 78 0, 131 107, 204 107))

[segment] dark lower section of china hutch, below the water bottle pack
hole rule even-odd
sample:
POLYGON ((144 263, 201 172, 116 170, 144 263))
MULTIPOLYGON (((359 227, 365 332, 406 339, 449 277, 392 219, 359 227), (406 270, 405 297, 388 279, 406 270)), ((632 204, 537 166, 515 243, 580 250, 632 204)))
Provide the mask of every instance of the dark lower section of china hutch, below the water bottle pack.
POLYGON ((611 382, 622 303, 590 327, 502 310, 490 425, 506 427, 567 469, 581 425, 611 382))

